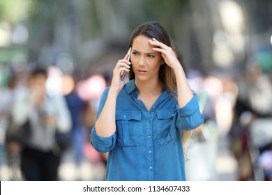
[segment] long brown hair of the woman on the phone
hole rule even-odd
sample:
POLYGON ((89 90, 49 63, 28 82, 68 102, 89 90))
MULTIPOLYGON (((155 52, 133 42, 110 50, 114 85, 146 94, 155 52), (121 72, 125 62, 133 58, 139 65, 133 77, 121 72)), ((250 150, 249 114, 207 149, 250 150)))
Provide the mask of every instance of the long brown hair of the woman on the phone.
MULTIPOLYGON (((148 38, 156 38, 156 40, 163 42, 165 45, 172 47, 173 49, 172 42, 169 38, 167 31, 165 31, 163 26, 161 26, 158 22, 146 22, 138 26, 132 33, 129 47, 133 45, 133 40, 137 36, 141 36, 141 35, 146 36, 148 38)), ((176 50, 174 50, 174 52, 176 52, 176 50)), ((181 56, 179 56, 178 52, 176 52, 176 56, 177 56, 177 59, 179 59, 181 65, 183 65, 183 61, 181 59, 181 56)), ((129 79, 130 80, 135 79, 135 73, 133 71, 129 72, 129 79)), ((171 93, 171 95, 177 100, 177 96, 175 93, 177 91, 176 77, 175 77, 174 71, 172 70, 172 68, 169 67, 169 65, 167 64, 160 65, 159 79, 163 83, 165 88, 167 88, 167 91, 169 91, 169 93, 171 93)), ((183 145, 183 150, 185 149, 186 143, 192 137, 192 133, 193 131, 182 132, 181 141, 183 145)), ((186 156, 185 150, 184 150, 184 156, 186 159, 188 159, 186 156)))

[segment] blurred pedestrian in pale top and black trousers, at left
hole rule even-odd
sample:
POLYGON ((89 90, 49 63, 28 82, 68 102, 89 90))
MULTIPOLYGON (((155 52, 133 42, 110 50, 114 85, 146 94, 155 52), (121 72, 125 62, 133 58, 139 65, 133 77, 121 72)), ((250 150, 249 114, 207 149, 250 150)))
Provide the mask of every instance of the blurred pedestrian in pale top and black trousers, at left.
POLYGON ((70 113, 61 95, 48 95, 47 70, 31 72, 28 88, 15 97, 13 122, 21 131, 21 169, 25 180, 57 180, 61 159, 55 149, 55 132, 70 130, 70 113))

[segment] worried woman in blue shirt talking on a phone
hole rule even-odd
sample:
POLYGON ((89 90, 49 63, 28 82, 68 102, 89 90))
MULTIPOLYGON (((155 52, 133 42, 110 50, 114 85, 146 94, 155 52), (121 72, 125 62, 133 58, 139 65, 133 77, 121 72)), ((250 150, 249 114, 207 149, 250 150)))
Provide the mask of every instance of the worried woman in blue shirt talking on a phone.
POLYGON ((90 137, 98 152, 109 152, 106 180, 186 180, 181 134, 204 121, 197 96, 160 24, 138 26, 130 47, 116 63, 90 137))

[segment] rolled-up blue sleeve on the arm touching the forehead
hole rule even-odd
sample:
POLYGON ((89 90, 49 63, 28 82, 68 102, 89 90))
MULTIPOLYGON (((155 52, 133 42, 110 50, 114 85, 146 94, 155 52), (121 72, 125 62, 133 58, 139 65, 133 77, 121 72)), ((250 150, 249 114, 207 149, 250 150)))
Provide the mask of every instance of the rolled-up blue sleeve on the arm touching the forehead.
POLYGON ((176 106, 177 120, 176 127, 179 130, 190 131, 204 123, 204 117, 199 110, 197 95, 194 93, 192 99, 184 106, 176 106))

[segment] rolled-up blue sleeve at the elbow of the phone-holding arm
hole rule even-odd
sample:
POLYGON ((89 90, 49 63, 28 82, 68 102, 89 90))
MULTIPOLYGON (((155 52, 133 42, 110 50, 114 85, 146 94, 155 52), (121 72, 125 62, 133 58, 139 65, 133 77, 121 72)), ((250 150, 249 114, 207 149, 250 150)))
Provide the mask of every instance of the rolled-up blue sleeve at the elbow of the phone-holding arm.
POLYGON ((115 146, 116 132, 110 137, 101 137, 96 134, 95 127, 91 130, 90 141, 93 148, 99 153, 107 153, 115 146))

